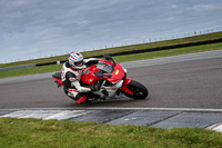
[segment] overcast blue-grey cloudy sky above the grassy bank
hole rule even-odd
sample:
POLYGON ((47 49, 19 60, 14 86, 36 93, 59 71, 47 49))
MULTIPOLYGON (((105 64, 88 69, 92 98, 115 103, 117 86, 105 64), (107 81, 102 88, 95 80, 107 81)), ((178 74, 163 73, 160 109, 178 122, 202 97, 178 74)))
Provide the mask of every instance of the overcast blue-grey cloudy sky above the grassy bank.
POLYGON ((0 63, 222 31, 222 0, 0 0, 0 63))

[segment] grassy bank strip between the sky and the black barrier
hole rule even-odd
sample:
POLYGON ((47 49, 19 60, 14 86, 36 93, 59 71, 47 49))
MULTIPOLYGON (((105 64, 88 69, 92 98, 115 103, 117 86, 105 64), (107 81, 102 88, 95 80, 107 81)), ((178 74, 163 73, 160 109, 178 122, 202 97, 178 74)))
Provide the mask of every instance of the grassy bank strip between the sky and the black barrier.
MULTIPOLYGON (((222 31, 208 33, 208 34, 201 34, 201 36, 194 36, 194 37, 188 37, 188 38, 181 38, 181 39, 164 40, 164 41, 157 41, 157 42, 150 42, 150 43, 140 43, 140 45, 132 45, 132 46, 124 46, 124 47, 117 47, 117 48, 108 48, 108 49, 101 49, 101 50, 94 50, 94 51, 85 51, 85 52, 82 52, 82 55, 84 57, 92 57, 92 56, 104 55, 104 53, 115 53, 115 52, 122 52, 122 51, 150 49, 150 48, 173 46, 173 45, 180 45, 180 43, 221 39, 221 37, 222 37, 222 31)), ((67 59, 68 59, 68 55, 63 55, 63 56, 11 62, 11 63, 0 63, 0 68, 30 65, 30 63, 46 63, 46 62, 53 62, 53 61, 62 61, 67 59)))

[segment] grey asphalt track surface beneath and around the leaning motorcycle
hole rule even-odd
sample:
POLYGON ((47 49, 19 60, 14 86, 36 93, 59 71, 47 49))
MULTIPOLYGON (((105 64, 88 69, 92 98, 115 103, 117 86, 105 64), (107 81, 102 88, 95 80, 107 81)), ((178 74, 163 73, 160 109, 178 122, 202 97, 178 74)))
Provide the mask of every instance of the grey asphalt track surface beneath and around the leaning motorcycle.
MULTIPOLYGON (((199 55, 201 53, 196 53, 199 55)), ((149 61, 152 60, 142 61, 139 66, 130 63, 134 68, 128 68, 128 77, 142 82, 150 91, 144 100, 123 97, 117 100, 78 105, 63 93, 62 88, 57 88, 51 73, 46 73, 49 76, 41 79, 13 81, 14 78, 11 78, 7 79, 9 82, 0 82, 0 109, 90 107, 221 109, 222 57, 204 58, 203 56, 203 58, 186 60, 183 56, 179 56, 178 59, 183 60, 151 66, 149 61)), ((160 58, 155 62, 161 60, 160 58)), ((32 77, 36 76, 29 76, 32 77)))

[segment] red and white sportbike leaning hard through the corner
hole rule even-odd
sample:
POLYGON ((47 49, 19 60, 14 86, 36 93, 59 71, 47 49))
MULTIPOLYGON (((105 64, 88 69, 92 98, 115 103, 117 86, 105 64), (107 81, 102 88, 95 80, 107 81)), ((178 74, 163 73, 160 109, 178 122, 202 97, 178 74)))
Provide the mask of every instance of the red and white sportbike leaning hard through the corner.
MULTIPOLYGON (((99 91, 90 91, 87 98, 93 100, 117 99, 118 96, 127 96, 132 99, 145 99, 149 95, 148 89, 140 82, 127 78, 127 69, 117 63, 109 55, 104 55, 104 60, 99 60, 83 69, 81 77, 82 86, 101 85, 99 91)), ((52 76, 58 87, 63 86, 61 72, 52 76)), ((65 95, 68 91, 64 89, 65 95)))

